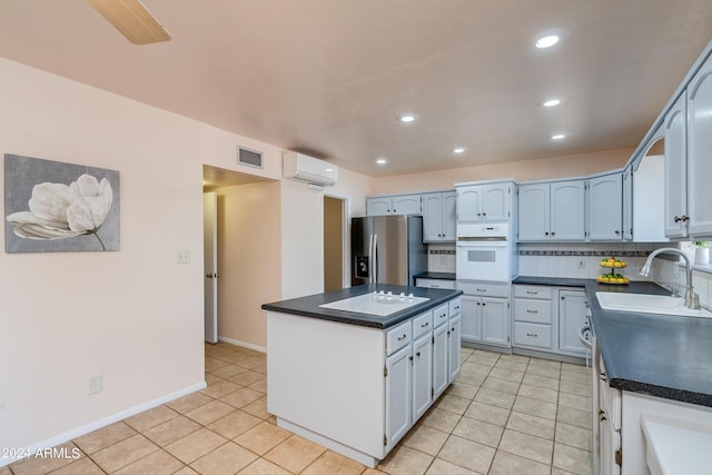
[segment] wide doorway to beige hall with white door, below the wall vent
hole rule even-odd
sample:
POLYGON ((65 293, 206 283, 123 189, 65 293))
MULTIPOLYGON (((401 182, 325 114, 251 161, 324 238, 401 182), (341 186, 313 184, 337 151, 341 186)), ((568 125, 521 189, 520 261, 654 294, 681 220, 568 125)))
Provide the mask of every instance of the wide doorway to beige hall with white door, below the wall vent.
POLYGON ((205 340, 264 350, 260 305, 277 300, 281 291, 275 284, 280 275, 279 181, 204 166, 202 191, 204 204, 212 202, 209 211, 204 208, 204 219, 214 216, 212 237, 204 235, 205 340))

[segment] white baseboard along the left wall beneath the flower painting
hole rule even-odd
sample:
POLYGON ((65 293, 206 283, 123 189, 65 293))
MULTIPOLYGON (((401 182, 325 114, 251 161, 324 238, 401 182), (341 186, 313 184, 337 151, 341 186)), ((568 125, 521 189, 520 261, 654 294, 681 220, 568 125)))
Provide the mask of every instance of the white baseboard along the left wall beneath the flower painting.
MULTIPOLYGON (((135 416, 144 410, 152 409, 154 407, 160 406, 161 404, 171 402, 179 397, 186 396, 190 393, 195 393, 196 390, 205 389, 207 384, 205 382, 194 384, 192 386, 185 387, 182 389, 176 390, 174 393, 167 394, 161 397, 157 397, 156 399, 148 400, 146 403, 139 404, 134 407, 129 407, 128 409, 120 410, 118 413, 111 414, 110 416, 102 417, 97 420, 92 420, 89 424, 85 424, 83 426, 73 428, 71 431, 67 431, 62 434, 56 435, 50 438, 46 438, 44 441, 38 442, 37 444, 32 444, 27 448, 28 454, 36 454, 38 451, 43 451, 48 447, 55 447, 57 445, 63 444, 77 437, 81 437, 85 434, 89 434, 92 431, 100 429, 101 427, 106 427, 109 424, 117 423, 119 420, 123 420, 127 417, 135 416)), ((21 458, 0 458, 0 467, 6 465, 10 465, 14 462, 20 461, 21 458)))

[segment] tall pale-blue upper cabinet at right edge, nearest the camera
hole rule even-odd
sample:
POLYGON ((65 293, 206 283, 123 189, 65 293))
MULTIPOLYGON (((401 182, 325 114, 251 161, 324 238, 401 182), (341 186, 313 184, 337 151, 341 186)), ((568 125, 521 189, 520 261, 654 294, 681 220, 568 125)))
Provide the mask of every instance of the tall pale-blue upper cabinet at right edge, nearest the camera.
POLYGON ((712 57, 688 82, 663 122, 665 236, 712 236, 712 57))

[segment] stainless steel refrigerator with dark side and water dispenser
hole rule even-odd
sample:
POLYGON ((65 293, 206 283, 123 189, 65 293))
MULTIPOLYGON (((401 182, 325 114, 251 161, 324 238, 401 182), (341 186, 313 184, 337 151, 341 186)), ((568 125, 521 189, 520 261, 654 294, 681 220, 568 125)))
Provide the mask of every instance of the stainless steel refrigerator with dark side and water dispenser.
POLYGON ((352 285, 413 286, 427 270, 421 216, 352 218, 352 285))

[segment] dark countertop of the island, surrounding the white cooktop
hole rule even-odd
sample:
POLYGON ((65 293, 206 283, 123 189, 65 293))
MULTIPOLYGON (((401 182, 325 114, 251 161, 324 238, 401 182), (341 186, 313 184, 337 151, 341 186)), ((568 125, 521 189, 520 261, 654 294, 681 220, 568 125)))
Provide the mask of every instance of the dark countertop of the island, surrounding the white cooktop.
POLYGON ((384 284, 368 284, 357 287, 343 288, 340 290, 327 291, 324 294, 314 294, 306 297, 293 298, 289 300, 274 301, 264 304, 264 310, 280 311, 283 314, 298 315, 301 317, 319 318, 323 320, 338 321, 342 324, 359 325, 374 328, 388 328, 407 320, 425 310, 435 308, 445 301, 462 295, 462 290, 424 288, 424 287, 406 287, 384 284), (385 317, 378 317, 366 314, 357 314, 353 311, 333 310, 329 308, 320 308, 319 305, 328 304, 344 298, 356 297, 373 291, 392 291, 394 295, 404 293, 413 294, 415 297, 428 298, 428 301, 415 305, 405 310, 396 311, 385 317))

